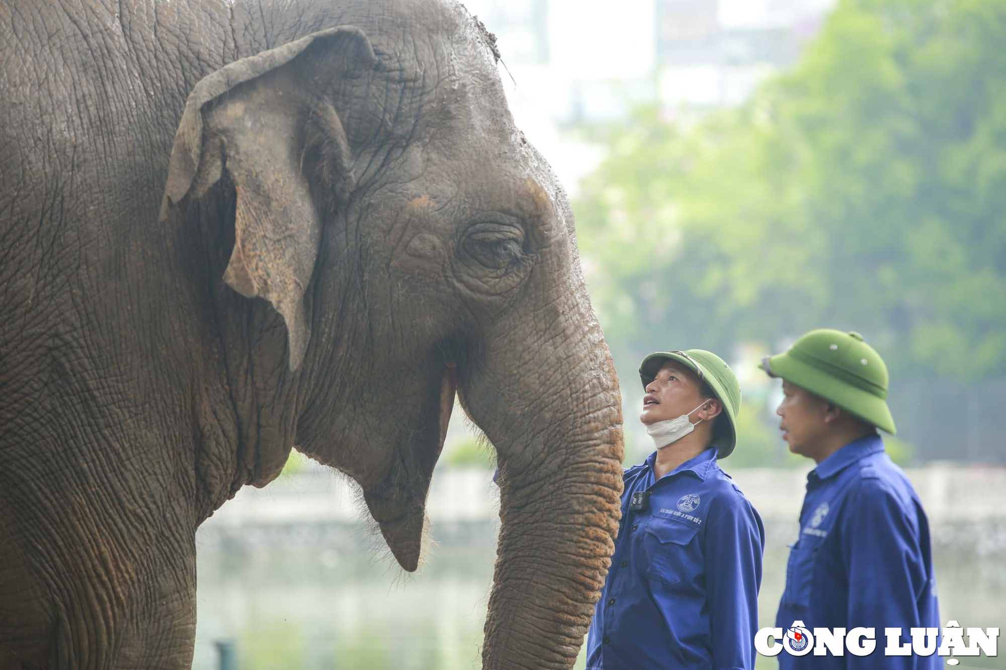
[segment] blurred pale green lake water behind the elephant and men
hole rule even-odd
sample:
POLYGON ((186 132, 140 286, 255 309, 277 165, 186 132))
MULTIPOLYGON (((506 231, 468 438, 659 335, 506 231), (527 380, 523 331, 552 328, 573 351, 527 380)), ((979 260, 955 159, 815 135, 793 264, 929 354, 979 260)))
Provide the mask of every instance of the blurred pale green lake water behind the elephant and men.
MULTIPOLYGON (((763 626, 774 623, 787 536, 796 534, 795 525, 767 523, 767 529, 763 626)), ((405 575, 386 551, 338 548, 379 546, 363 536, 362 525, 350 531, 351 541, 273 534, 249 548, 202 540, 193 667, 215 670, 213 642, 232 639, 241 670, 480 668, 495 557, 484 538, 491 530, 435 546, 414 575, 405 575)), ((934 529, 942 624, 1006 628, 1004 535, 1001 522, 934 529)), ((576 667, 582 666, 581 655, 576 667)), ((760 670, 775 667, 774 659, 760 658, 760 670)), ((963 658, 957 667, 1006 670, 1006 658, 963 658)))

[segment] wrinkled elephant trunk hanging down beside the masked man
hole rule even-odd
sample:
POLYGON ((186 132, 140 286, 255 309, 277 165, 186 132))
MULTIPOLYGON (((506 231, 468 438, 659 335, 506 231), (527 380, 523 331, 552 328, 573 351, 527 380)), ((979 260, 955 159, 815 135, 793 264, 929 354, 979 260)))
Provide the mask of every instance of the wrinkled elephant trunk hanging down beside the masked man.
POLYGON ((483 668, 571 668, 614 551, 621 395, 601 328, 589 303, 579 305, 586 307, 574 311, 578 319, 556 315, 550 322, 570 328, 524 349, 522 374, 514 374, 512 354, 488 357, 488 378, 516 377, 521 387, 465 394, 500 466, 502 527, 483 668))

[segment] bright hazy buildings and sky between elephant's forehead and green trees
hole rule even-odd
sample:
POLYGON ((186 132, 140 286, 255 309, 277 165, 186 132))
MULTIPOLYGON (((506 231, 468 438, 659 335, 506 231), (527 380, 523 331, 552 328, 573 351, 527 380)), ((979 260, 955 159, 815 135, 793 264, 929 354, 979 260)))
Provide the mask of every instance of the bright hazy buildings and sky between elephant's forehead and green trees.
POLYGON ((567 189, 601 160, 571 137, 641 105, 681 114, 743 103, 792 65, 835 0, 468 0, 497 37, 517 125, 567 189))

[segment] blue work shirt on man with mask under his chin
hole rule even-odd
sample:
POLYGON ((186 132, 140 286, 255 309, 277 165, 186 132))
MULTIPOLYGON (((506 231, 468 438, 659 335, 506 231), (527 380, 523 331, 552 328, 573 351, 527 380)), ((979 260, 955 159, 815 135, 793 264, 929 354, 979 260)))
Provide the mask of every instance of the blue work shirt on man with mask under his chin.
POLYGON ((654 452, 625 473, 615 555, 586 670, 753 668, 765 528, 707 449, 657 481, 654 452), (645 509, 633 494, 649 491, 645 509))

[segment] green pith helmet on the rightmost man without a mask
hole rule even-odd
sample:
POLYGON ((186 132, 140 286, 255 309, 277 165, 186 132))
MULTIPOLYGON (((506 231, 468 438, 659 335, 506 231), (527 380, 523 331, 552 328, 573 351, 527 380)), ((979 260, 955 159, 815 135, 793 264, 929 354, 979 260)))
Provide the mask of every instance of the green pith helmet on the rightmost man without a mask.
POLYGON ((859 333, 812 330, 786 353, 764 358, 762 369, 894 435, 886 401, 887 366, 859 333))

